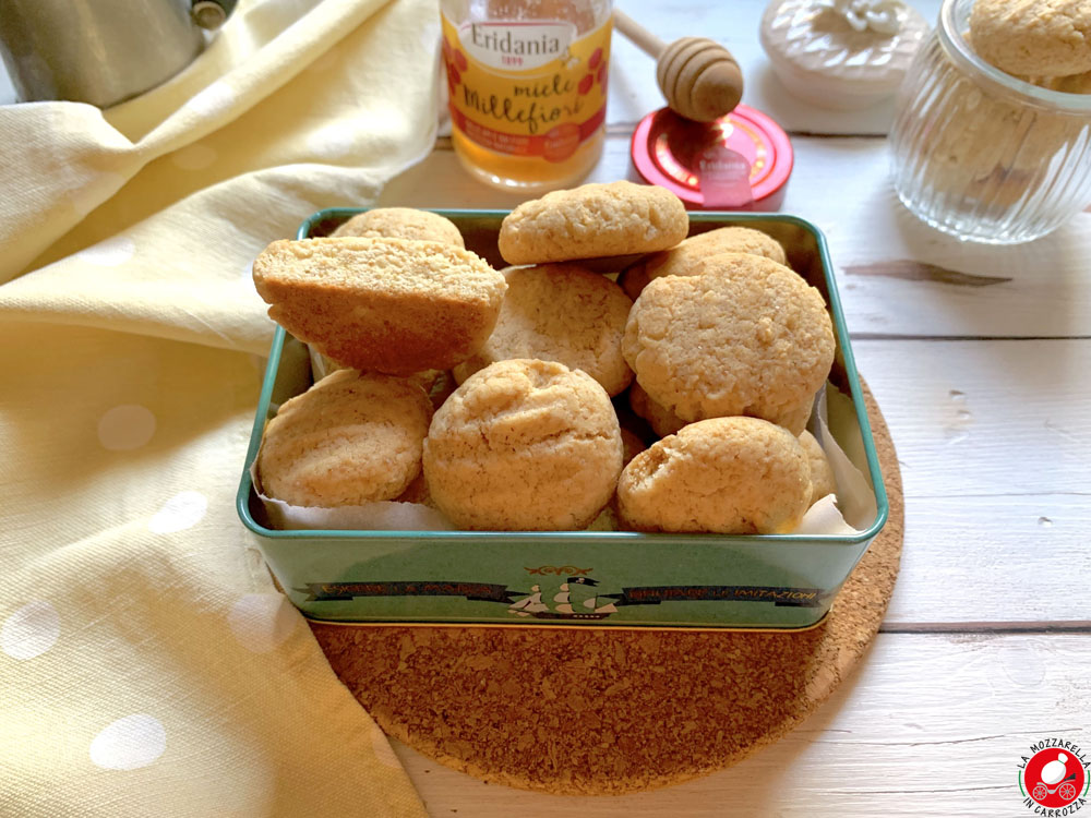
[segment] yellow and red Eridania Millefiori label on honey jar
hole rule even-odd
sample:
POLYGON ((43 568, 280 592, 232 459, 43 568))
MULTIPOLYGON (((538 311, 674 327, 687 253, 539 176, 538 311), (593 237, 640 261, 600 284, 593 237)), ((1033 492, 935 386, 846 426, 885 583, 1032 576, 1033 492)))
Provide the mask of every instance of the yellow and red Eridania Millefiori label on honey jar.
POLYGON ((443 17, 451 119, 482 147, 559 163, 606 119, 611 24, 443 17))

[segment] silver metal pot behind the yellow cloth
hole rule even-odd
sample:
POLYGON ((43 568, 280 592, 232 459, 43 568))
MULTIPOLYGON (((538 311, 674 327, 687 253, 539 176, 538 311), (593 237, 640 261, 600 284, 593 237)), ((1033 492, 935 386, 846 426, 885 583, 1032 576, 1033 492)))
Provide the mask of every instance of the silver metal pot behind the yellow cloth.
POLYGON ((20 101, 107 108, 169 80, 236 0, 0 0, 0 57, 20 101))

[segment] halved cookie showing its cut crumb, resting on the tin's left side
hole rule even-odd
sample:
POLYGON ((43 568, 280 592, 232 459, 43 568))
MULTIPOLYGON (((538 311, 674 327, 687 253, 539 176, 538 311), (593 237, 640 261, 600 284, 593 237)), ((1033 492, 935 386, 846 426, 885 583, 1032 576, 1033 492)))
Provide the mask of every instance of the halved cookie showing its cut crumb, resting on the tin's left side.
POLYGON ((275 241, 254 261, 269 316, 337 363, 409 374, 449 370, 485 342, 504 277, 434 241, 275 241))

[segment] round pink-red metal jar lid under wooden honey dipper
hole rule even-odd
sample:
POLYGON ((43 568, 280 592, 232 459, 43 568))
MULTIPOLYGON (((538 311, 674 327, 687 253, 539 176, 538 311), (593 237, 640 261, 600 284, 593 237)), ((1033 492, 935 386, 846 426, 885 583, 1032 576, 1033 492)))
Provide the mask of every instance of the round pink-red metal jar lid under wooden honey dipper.
POLYGON ((788 134, 745 105, 715 122, 660 108, 636 127, 631 153, 645 181, 709 209, 776 209, 793 160, 788 134))

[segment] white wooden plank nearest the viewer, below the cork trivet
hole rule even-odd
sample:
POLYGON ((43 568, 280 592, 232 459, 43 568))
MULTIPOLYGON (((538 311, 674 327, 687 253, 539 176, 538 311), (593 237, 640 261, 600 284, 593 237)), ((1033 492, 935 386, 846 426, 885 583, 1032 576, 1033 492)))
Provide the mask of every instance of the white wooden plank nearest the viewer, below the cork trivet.
POLYGON ((772 747, 694 782, 620 797, 488 785, 404 745, 396 751, 436 817, 1017 816, 1017 767, 1032 743, 1091 748, 1089 663, 1083 634, 880 634, 856 676, 772 747))

